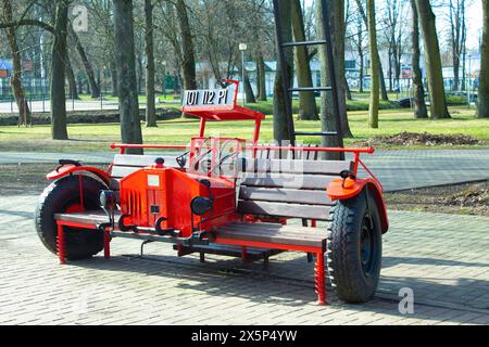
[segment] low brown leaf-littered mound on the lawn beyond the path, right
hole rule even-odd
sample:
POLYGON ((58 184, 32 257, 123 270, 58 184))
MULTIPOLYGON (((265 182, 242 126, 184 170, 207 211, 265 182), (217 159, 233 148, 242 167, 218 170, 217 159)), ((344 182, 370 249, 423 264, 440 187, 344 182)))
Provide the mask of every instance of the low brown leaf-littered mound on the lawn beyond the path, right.
POLYGON ((393 136, 380 136, 366 141, 356 141, 354 145, 378 146, 378 145, 477 145, 482 141, 463 133, 434 134, 428 132, 401 132, 393 136))

